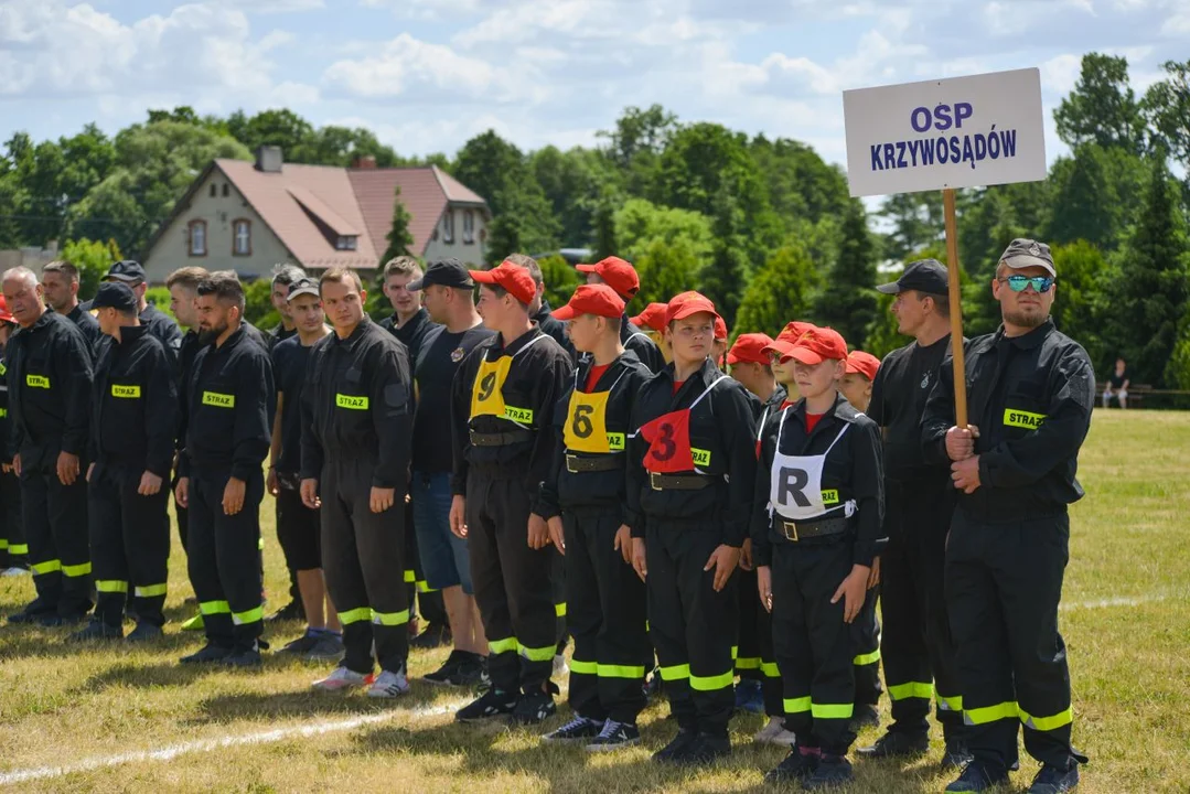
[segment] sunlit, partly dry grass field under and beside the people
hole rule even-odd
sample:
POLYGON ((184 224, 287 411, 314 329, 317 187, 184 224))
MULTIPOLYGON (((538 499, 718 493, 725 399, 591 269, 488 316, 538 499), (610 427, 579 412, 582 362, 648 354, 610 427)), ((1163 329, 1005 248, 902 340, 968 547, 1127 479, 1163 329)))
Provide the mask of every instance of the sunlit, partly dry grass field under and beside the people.
MULTIPOLYGON (((1061 613, 1075 682, 1075 743, 1090 757, 1082 792, 1190 790, 1190 413, 1097 412, 1082 456, 1088 496, 1073 508, 1061 613)), ((265 506, 268 586, 284 571, 265 506)), ((395 571, 394 571, 394 575, 395 571)), ((414 681, 407 699, 317 695, 325 668, 265 659, 263 671, 180 668, 201 642, 178 633, 190 595, 171 561, 167 639, 150 649, 77 649, 65 630, 0 626, 0 787, 20 790, 760 792, 782 751, 757 749, 758 717, 733 720, 735 754, 684 773, 652 764, 669 740, 664 706, 643 715, 645 743, 612 757, 543 748, 537 732, 464 729, 468 693, 414 681), (306 729, 306 734, 298 729, 306 729), (140 755, 138 755, 140 754, 140 755)), ((0 580, 0 611, 32 598, 0 580)), ((274 605, 275 606, 275 605, 274 605)), ((296 624, 270 629, 283 643, 296 624)), ((411 673, 445 651, 419 652, 411 673)), ((887 702, 882 704, 887 711, 887 702)), ((556 721, 566 717, 566 709, 556 721)), ((552 723, 546 727, 551 727, 552 723)), ((865 732, 860 742, 875 738, 865 732)), ((857 763, 854 792, 941 792, 934 751, 906 767, 857 763)), ((1015 790, 1035 767, 1023 764, 1015 790)))

